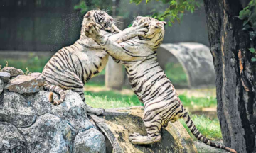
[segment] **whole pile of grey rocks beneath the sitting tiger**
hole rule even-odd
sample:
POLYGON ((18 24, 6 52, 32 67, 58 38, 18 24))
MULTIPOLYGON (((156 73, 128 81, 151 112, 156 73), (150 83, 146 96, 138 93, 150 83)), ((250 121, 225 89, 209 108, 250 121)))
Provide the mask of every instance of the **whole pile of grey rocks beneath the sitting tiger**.
POLYGON ((53 106, 40 75, 14 67, 0 72, 0 152, 105 152, 105 137, 80 96, 65 91, 64 103, 53 106))

